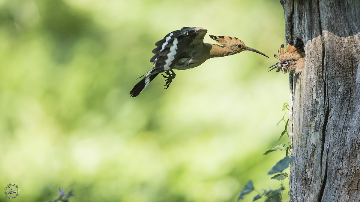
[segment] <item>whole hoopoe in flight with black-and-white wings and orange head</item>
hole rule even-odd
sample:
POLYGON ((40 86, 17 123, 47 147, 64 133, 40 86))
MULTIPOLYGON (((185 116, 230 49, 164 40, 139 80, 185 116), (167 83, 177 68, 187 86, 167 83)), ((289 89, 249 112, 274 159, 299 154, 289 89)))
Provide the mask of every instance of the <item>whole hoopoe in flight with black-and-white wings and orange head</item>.
POLYGON ((164 86, 168 88, 176 75, 173 69, 194 68, 210 58, 234 55, 245 50, 266 56, 264 53, 246 46, 236 37, 210 35, 210 38, 221 45, 204 43, 206 32, 207 29, 202 27, 183 27, 168 33, 162 40, 156 42, 157 47, 153 50, 155 55, 150 59, 153 69, 141 76, 144 78, 132 88, 130 96, 138 96, 159 74, 165 78, 164 86))

